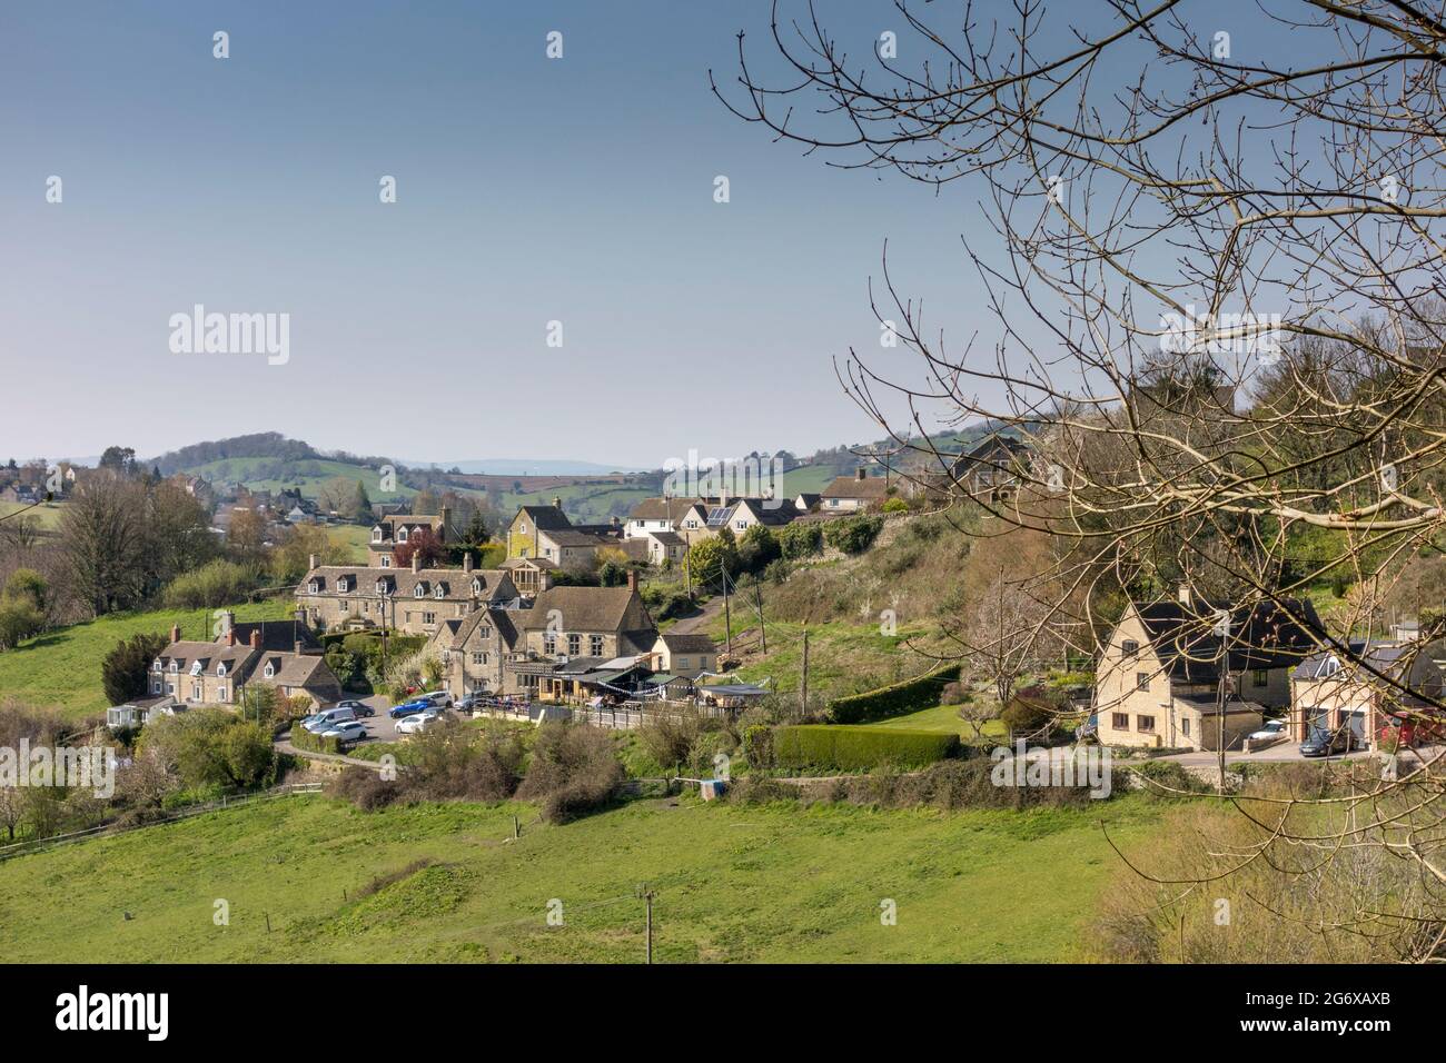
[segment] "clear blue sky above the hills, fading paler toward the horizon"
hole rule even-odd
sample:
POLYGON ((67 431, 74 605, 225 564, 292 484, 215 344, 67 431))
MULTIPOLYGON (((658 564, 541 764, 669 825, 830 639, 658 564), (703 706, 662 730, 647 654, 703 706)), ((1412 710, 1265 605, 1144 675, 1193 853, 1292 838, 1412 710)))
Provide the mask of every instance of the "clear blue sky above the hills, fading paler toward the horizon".
MULTIPOLYGON (((899 22, 818 6, 860 55, 899 22)), ((709 68, 736 78, 740 29, 768 54, 768 16, 0 6, 0 458, 279 431, 437 463, 661 467, 878 438, 833 359, 878 353, 885 240, 949 328, 998 330, 960 243, 986 231, 983 189, 833 169, 729 114, 709 68), (176 350, 174 315, 197 305, 286 314, 285 360, 176 350)))

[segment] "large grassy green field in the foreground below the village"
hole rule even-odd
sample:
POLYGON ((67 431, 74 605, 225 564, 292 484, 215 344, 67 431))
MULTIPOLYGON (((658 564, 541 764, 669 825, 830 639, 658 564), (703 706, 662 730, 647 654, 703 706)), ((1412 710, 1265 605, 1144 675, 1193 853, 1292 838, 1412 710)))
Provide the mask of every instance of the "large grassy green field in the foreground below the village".
POLYGON ((360 813, 288 797, 0 863, 10 962, 1057 962, 1157 813, 735 807, 529 823, 526 806, 360 813), (506 842, 512 814, 522 839, 506 842), (434 861, 359 900, 375 878, 434 861), (343 897, 346 892, 346 898, 343 897), (547 926, 552 900, 562 926, 547 926), (224 900, 230 924, 215 926, 224 900), (897 926, 881 923, 881 901, 897 926), (129 913, 130 918, 126 917, 129 913), (270 917, 272 931, 266 930, 270 917))

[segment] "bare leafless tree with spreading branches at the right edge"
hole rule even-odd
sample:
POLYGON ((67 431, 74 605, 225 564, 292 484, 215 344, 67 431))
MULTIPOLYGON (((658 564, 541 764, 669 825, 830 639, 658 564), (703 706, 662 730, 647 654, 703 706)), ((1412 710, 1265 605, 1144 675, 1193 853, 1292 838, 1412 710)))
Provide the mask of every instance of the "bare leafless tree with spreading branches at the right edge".
MULTIPOLYGON (((1343 583, 1359 590, 1317 645, 1439 720, 1440 693, 1359 639, 1446 531, 1442 1, 1259 0, 1241 25, 1184 0, 1002 9, 895 0, 897 51, 860 61, 814 3, 775 0, 762 58, 740 35, 736 82, 714 84, 830 165, 982 189, 963 247, 991 340, 925 321, 885 247, 870 301, 917 363, 905 377, 850 350, 840 382, 901 469, 950 477, 1001 532, 1053 537, 1050 579, 1080 592, 1086 631, 1176 583, 1300 620, 1309 592, 1343 583), (980 422, 1030 444, 1028 469, 998 470, 1012 492, 973 490, 934 443, 980 422)), ((1446 956, 1434 759, 1343 785, 1261 798, 1268 829, 1231 859, 1283 840, 1384 855, 1427 884, 1423 905, 1392 913, 1382 887, 1332 931, 1394 918, 1400 956, 1446 956)))

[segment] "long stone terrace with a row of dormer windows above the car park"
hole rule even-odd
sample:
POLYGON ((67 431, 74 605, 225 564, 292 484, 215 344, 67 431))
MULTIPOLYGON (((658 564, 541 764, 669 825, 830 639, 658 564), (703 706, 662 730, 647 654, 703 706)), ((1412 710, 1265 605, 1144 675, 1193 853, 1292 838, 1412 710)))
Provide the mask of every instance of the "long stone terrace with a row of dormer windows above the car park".
POLYGON ((444 620, 479 609, 518 605, 512 577, 497 568, 422 568, 412 555, 409 568, 318 565, 296 584, 296 606, 315 628, 393 628, 409 635, 432 635, 444 620))

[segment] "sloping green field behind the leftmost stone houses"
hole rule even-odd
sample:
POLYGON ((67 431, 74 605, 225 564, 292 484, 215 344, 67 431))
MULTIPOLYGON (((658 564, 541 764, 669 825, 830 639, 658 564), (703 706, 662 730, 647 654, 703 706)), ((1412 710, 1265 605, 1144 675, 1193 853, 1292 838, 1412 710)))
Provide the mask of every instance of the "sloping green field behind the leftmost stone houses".
MULTIPOLYGON (((283 620, 294 609, 291 599, 234 606, 237 620, 283 620)), ((210 639, 214 619, 207 609, 161 609, 48 631, 0 652, 0 700, 13 697, 33 707, 54 706, 68 720, 103 713, 110 707, 100 681, 106 654, 121 639, 140 632, 169 632, 174 623, 181 625, 182 638, 210 639)))

